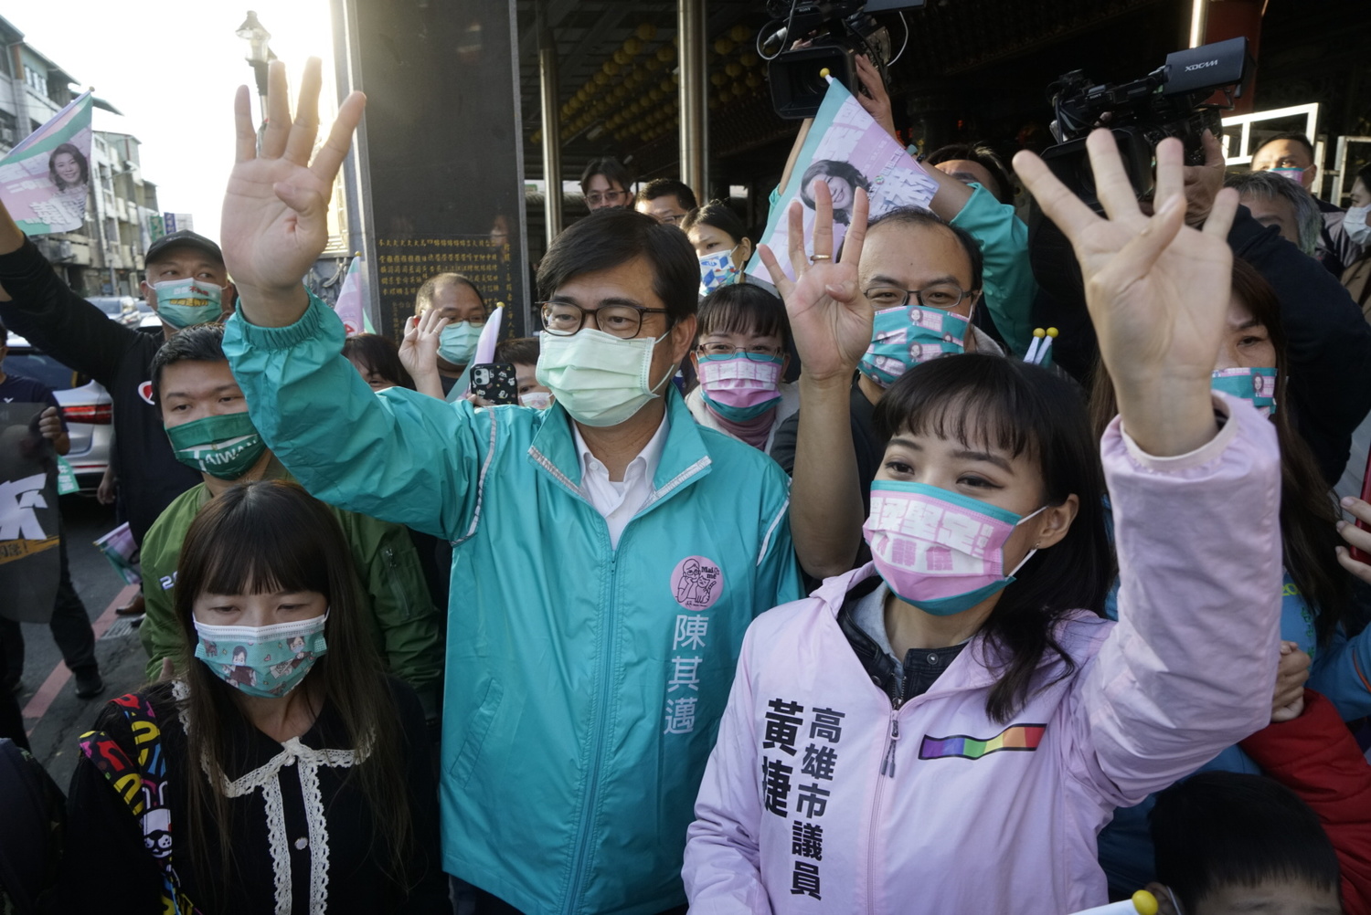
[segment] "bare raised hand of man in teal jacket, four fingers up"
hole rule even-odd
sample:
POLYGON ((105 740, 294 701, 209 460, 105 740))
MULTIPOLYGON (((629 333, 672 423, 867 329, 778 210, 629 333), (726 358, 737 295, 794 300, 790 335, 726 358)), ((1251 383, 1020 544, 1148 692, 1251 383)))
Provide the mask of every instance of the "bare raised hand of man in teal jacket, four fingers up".
POLYGON ((237 156, 223 195, 219 242, 252 323, 280 327, 300 316, 307 301, 300 281, 328 242, 333 179, 366 99, 354 92, 343 101, 328 141, 311 162, 319 85, 319 60, 310 58, 292 121, 285 64, 271 63, 260 152, 247 86, 239 86, 234 100, 237 156))

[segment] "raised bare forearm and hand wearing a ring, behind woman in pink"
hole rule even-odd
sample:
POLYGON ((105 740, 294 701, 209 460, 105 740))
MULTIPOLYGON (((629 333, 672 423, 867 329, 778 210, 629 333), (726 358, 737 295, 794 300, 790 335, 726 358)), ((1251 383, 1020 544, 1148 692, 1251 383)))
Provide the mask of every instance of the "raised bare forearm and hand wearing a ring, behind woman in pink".
POLYGON ((786 301, 799 353, 799 431, 791 474, 790 527, 801 567, 814 578, 853 567, 861 547, 862 492, 851 437, 853 373, 871 342, 872 307, 857 288, 857 263, 866 236, 866 192, 858 189, 842 259, 834 248, 832 199, 814 182, 814 260, 805 256, 799 201, 791 203, 790 263, 786 277, 776 255, 758 253, 786 301))

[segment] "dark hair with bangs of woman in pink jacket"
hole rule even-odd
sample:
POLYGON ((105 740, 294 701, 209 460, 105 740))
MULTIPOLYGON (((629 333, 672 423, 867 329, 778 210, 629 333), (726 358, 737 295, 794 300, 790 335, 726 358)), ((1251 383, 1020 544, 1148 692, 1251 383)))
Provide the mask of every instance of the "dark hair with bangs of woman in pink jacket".
POLYGON ((1065 537, 1019 570, 980 629, 993 649, 987 664, 998 677, 986 714, 1008 722, 1032 694, 1034 673, 1046 652, 1065 664, 1050 682, 1075 671, 1057 629, 1072 611, 1102 616, 1115 577, 1104 471, 1080 393, 1038 366, 965 353, 906 371, 876 404, 875 423, 887 441, 903 430, 1026 455, 1042 474, 1046 504, 1061 505, 1072 494, 1080 503, 1065 537))

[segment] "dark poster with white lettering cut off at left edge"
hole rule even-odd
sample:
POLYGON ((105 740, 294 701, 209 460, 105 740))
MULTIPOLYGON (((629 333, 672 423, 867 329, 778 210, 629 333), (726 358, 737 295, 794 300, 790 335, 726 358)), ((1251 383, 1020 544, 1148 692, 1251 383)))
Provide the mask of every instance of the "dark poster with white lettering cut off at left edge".
POLYGON ((48 404, 0 403, 0 616, 45 623, 58 596, 58 467, 38 433, 48 404))

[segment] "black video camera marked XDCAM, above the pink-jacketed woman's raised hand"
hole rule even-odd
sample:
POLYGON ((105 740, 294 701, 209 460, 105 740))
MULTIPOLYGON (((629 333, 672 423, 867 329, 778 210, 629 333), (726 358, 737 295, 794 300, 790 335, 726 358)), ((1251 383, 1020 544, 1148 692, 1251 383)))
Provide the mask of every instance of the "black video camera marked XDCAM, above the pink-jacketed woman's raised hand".
POLYGON ((1176 51, 1141 79, 1121 85, 1091 85, 1080 70, 1061 75, 1047 92, 1056 111, 1052 133, 1056 147, 1043 162, 1078 197, 1100 210, 1094 174, 1086 155, 1086 136, 1109 127, 1119 144, 1124 168, 1139 197, 1152 192, 1153 151, 1167 137, 1179 137, 1186 164, 1204 164, 1201 134, 1222 131, 1220 105, 1204 104, 1216 90, 1242 96, 1248 75, 1248 40, 1228 38, 1176 51))

